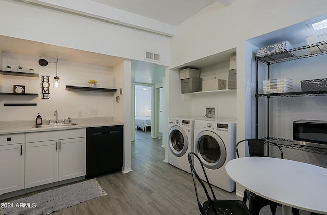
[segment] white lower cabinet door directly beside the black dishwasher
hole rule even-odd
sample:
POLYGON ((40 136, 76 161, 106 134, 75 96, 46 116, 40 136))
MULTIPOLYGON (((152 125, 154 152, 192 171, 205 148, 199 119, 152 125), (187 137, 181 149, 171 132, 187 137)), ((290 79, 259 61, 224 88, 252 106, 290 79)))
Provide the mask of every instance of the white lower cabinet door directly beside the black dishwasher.
POLYGON ((59 181, 86 175, 86 138, 60 140, 59 181))

